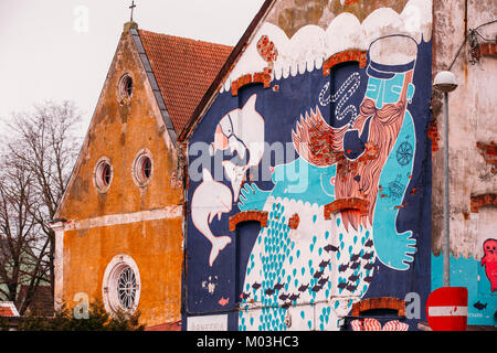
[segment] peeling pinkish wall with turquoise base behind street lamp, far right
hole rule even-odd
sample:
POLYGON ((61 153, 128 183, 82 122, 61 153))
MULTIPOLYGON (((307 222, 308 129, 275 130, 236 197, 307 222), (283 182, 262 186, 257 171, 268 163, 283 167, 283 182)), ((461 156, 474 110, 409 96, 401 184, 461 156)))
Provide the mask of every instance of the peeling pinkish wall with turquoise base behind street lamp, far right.
MULTIPOLYGON (((469 323, 496 324, 497 290, 491 290, 495 278, 485 274, 484 242, 497 238, 497 213, 494 203, 497 193, 495 170, 495 101, 497 98, 496 55, 484 55, 475 65, 469 40, 465 33, 497 18, 495 1, 434 1, 433 75, 447 69, 455 60, 452 73, 458 87, 450 94, 450 231, 451 285, 469 290, 469 323), (478 306, 478 302, 482 306, 478 306), (476 307, 475 307, 476 304, 476 307), (483 308, 485 306, 485 308, 483 308)), ((496 40, 497 23, 478 29, 486 39, 496 40)), ((477 36, 479 43, 485 41, 477 36)), ((432 126, 433 149, 432 194, 432 286, 441 286, 443 248, 443 98, 434 92, 432 126)), ((489 268, 491 264, 487 265, 489 268)), ((495 271, 494 271, 495 272, 495 271)))

